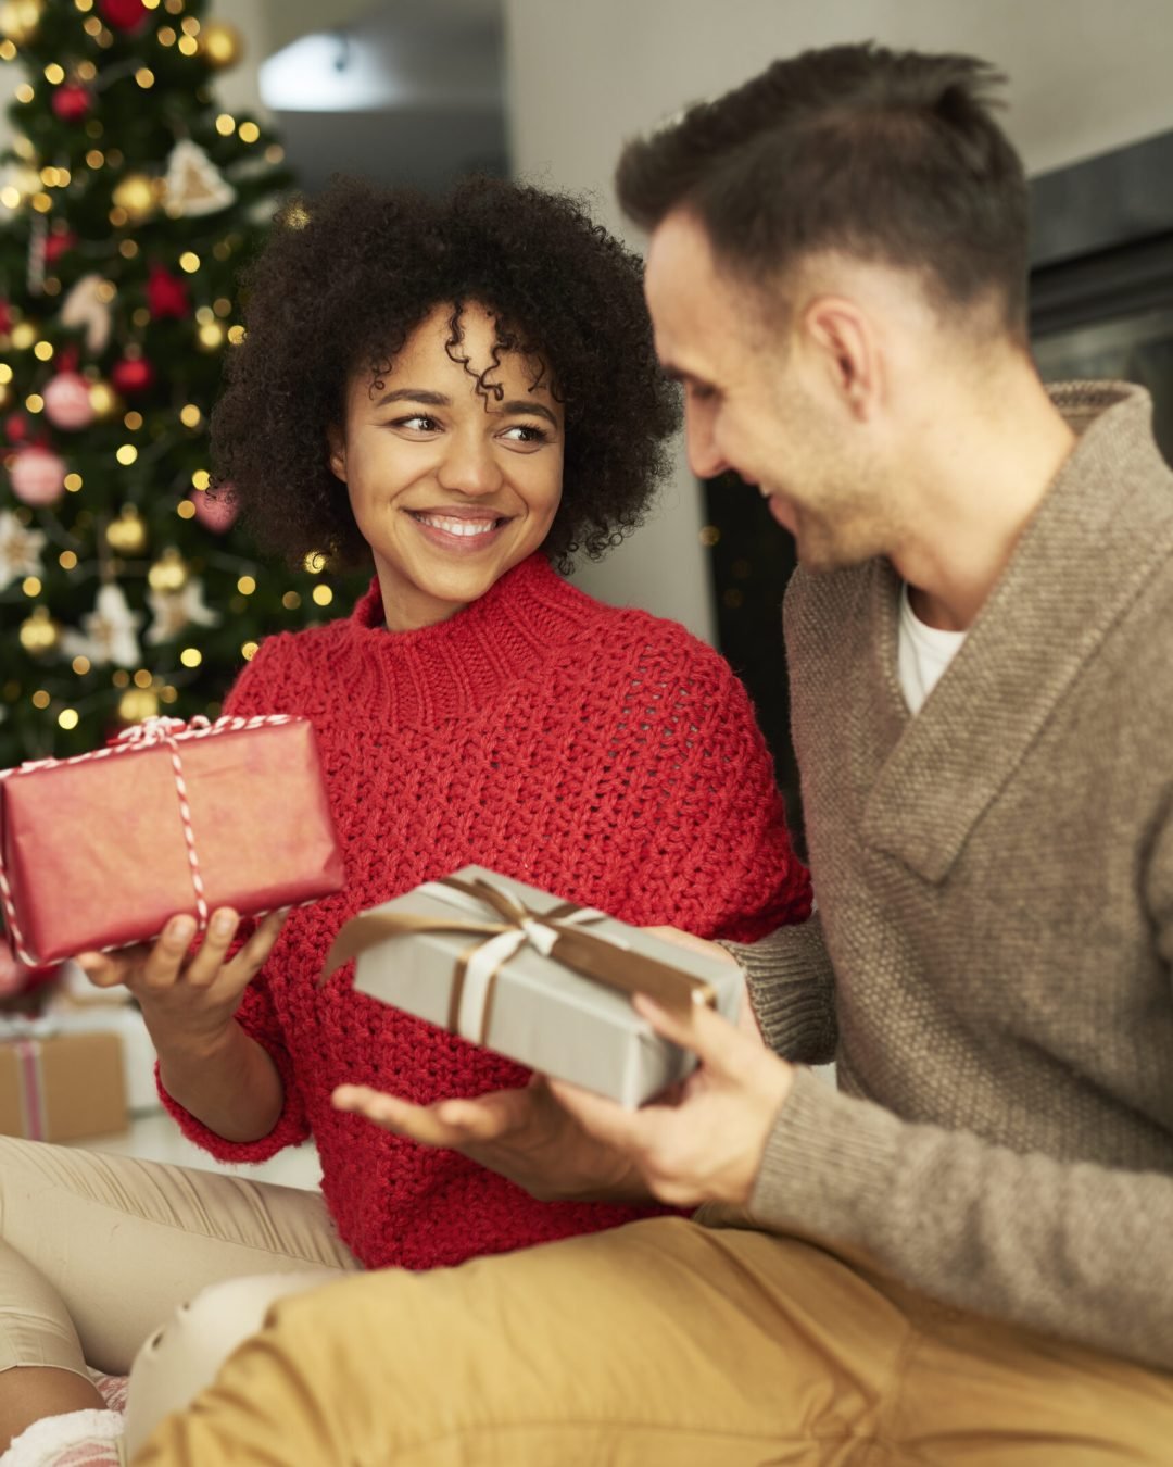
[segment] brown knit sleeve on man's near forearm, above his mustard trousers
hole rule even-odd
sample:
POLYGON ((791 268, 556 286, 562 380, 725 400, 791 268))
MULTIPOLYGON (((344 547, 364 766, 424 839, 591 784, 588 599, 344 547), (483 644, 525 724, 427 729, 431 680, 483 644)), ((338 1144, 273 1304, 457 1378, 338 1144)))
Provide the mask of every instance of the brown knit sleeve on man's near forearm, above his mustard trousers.
POLYGON ((974 1313, 1173 1367, 1169 1177, 908 1124, 799 1069, 751 1212, 974 1313))

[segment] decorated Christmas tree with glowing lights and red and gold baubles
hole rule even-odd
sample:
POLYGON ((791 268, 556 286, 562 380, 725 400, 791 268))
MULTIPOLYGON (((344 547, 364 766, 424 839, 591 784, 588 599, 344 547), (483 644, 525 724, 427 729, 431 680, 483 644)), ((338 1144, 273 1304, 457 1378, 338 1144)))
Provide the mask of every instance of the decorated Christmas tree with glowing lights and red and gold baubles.
POLYGON ((205 0, 10 0, 0 188, 0 767, 216 716, 267 632, 346 609, 324 556, 261 562, 213 486, 236 276, 290 182, 214 100, 205 0))

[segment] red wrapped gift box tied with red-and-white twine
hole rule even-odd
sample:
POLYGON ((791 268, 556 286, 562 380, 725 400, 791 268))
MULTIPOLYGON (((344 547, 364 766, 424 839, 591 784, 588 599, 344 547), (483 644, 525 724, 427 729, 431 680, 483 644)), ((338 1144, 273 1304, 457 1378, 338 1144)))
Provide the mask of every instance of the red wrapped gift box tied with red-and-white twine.
POLYGON ((306 719, 148 719, 110 748, 0 773, 0 899, 26 964, 342 885, 306 719))

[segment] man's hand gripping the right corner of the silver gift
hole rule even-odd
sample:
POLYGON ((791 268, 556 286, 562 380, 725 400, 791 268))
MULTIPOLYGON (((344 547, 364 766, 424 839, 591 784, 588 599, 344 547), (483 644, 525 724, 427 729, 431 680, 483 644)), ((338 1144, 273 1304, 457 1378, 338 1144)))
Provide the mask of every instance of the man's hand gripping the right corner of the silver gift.
POLYGON ((625 1111, 565 1081, 551 1080, 551 1093, 586 1135, 628 1157, 660 1201, 745 1206, 793 1068, 705 1005, 683 1020, 642 995, 635 1006, 658 1034, 701 1059, 679 1099, 625 1111))

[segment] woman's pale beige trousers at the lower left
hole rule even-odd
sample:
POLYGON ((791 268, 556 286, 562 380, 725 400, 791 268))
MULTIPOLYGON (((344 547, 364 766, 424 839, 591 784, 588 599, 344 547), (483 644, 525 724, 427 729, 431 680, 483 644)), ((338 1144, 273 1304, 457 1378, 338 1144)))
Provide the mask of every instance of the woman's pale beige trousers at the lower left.
MULTIPOLYGON (((321 1282, 359 1267, 317 1191, 7 1135, 0 1240, 0 1370, 35 1364, 85 1375, 91 1364, 125 1375, 151 1332, 177 1310, 182 1323, 182 1306, 210 1285, 254 1273, 321 1282)), ((262 1295, 229 1289, 214 1313, 201 1311, 210 1363, 202 1373, 192 1363, 189 1388, 164 1394, 163 1410, 211 1378, 273 1295, 270 1279, 262 1295)), ((161 1388, 152 1380, 144 1401, 151 1422, 161 1388)), ((142 1394, 132 1378, 132 1422, 142 1394)))

